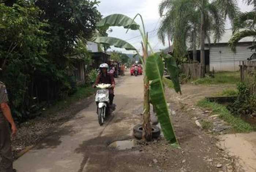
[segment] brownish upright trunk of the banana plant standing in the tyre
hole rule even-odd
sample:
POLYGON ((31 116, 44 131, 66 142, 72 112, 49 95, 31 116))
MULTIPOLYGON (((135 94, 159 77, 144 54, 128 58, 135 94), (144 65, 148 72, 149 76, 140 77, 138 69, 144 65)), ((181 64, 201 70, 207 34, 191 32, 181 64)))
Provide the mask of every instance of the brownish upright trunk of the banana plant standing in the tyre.
MULTIPOLYGON (((146 64, 147 59, 147 45, 143 46, 143 58, 146 64)), ((152 133, 151 133, 151 119, 150 119, 150 98, 149 98, 149 82, 147 79, 147 75, 144 73, 144 112, 143 112, 143 135, 142 138, 146 141, 151 141, 152 133)))

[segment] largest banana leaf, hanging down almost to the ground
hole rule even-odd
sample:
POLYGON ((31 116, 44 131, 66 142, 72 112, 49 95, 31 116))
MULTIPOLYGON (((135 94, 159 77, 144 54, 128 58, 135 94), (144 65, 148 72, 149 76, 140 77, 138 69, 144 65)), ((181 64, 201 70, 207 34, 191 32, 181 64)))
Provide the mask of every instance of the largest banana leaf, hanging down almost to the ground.
POLYGON ((178 147, 178 142, 170 121, 169 109, 163 89, 163 61, 162 57, 153 54, 146 61, 146 76, 150 81, 150 101, 155 107, 155 112, 160 122, 163 135, 172 146, 178 147))

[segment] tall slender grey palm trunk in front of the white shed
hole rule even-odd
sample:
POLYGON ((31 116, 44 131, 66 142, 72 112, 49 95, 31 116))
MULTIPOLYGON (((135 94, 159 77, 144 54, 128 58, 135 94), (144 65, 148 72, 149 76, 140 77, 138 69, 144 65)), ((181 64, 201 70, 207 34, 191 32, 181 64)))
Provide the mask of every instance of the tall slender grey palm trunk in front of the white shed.
POLYGON ((200 53, 200 61, 202 65, 202 74, 201 76, 205 76, 205 60, 204 60, 204 40, 205 40, 205 35, 204 35, 204 0, 202 0, 202 10, 201 10, 201 37, 200 37, 200 43, 201 43, 201 53, 200 53))

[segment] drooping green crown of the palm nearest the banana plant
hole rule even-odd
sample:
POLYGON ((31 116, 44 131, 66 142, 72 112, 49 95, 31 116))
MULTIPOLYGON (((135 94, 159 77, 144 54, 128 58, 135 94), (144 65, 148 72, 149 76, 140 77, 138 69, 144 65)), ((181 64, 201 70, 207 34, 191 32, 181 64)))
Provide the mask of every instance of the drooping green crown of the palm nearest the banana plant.
MULTIPOLYGON (((159 4, 159 14, 163 19, 158 30, 158 38, 163 44, 166 37, 173 41, 176 59, 185 56, 187 38, 196 37, 198 18, 191 16, 198 14, 195 8, 191 8, 193 5, 191 0, 163 0, 159 4), (163 14, 165 10, 166 15, 163 14)), ((196 40, 193 40, 193 45, 196 45, 196 40)))

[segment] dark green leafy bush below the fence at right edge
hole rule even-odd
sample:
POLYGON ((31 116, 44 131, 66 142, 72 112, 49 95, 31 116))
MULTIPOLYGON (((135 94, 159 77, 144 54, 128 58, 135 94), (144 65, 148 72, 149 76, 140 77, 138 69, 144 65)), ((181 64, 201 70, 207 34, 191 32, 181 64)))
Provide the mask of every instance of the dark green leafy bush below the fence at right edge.
POLYGON ((238 97, 233 104, 228 106, 229 110, 237 116, 256 113, 256 95, 250 93, 244 83, 238 83, 237 89, 238 97))

